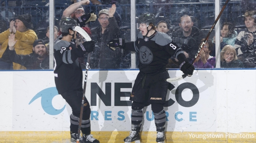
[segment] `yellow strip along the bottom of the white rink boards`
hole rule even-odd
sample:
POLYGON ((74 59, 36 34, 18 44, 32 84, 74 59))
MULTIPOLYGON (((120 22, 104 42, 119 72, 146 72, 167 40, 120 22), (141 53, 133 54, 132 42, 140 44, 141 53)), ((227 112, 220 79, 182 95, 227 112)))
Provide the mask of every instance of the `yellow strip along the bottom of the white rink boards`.
MULTIPOLYGON (((128 131, 92 131, 101 143, 123 143, 128 131)), ((156 132, 141 132, 142 143, 156 143, 156 132)), ((0 131, 0 143, 70 143, 69 131, 0 131)), ((256 143, 256 133, 167 132, 165 143, 256 143)))

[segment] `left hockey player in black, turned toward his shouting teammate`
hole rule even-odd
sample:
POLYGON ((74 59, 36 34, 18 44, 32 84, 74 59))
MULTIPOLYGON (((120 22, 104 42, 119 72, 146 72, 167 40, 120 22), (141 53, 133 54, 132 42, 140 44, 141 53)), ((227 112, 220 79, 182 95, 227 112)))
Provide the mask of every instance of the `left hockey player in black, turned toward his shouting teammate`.
MULTIPOLYGON (((62 32, 62 39, 56 39, 54 45, 54 74, 55 84, 58 93, 69 103, 72 108, 70 115, 70 135, 71 142, 75 143, 78 133, 79 116, 83 96, 82 89, 82 69, 78 62, 79 57, 83 57, 86 52, 93 51, 94 41, 86 41, 76 48, 73 39, 76 39, 75 26, 79 25, 73 18, 62 18, 59 28, 62 32)), ((84 109, 82 115, 82 138, 80 143, 99 143, 91 135, 90 124, 90 104, 84 99, 84 109)))

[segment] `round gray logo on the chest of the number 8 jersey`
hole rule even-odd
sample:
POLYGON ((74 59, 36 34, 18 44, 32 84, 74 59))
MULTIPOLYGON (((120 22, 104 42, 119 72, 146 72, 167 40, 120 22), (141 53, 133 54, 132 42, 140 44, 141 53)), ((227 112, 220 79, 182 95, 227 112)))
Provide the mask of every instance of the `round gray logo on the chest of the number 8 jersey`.
POLYGON ((150 64, 153 60, 153 54, 146 46, 140 48, 140 62, 142 64, 150 64))

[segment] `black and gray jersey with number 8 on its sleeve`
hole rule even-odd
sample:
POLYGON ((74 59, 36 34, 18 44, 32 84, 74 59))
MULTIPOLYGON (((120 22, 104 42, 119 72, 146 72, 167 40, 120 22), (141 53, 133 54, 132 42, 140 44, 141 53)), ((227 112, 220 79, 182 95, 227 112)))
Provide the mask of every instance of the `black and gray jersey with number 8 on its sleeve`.
POLYGON ((168 59, 171 56, 178 58, 183 53, 182 58, 178 60, 186 60, 184 52, 175 43, 172 42, 168 34, 155 31, 150 37, 142 36, 140 32, 136 41, 126 42, 125 50, 138 52, 140 72, 154 73, 165 71, 168 59))

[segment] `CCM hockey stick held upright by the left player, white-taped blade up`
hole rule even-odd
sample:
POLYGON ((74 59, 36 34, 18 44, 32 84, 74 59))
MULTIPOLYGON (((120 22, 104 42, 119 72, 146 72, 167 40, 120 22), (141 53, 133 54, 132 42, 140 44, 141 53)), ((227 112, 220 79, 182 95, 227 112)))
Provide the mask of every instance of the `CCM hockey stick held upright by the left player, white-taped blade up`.
MULTIPOLYGON (((91 41, 91 37, 81 27, 76 26, 75 31, 81 34, 86 39, 86 41, 91 41)), ((79 140, 80 140, 80 131, 81 131, 81 125, 82 125, 83 111, 84 111, 84 98, 85 98, 85 89, 86 89, 86 83, 87 83, 89 62, 90 62, 90 53, 88 53, 88 58, 87 58, 86 68, 85 68, 84 90, 83 90, 81 111, 80 111, 80 117, 79 117, 79 125, 78 125, 78 133, 77 133, 78 137, 76 138, 76 143, 79 143, 79 140)))

